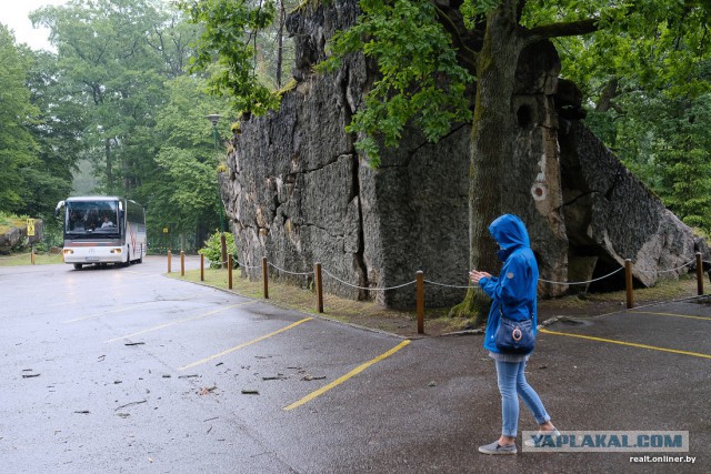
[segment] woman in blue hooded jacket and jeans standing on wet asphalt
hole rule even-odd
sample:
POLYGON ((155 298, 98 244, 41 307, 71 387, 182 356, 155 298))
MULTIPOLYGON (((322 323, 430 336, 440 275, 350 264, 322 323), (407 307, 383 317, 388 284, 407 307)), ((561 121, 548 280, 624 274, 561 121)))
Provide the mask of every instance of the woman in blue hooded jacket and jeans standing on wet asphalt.
POLYGON ((533 334, 538 324, 538 263, 530 248, 529 233, 515 215, 504 214, 489 225, 489 232, 501 248, 498 252, 503 266, 499 276, 472 270, 469 276, 491 300, 487 321, 484 349, 495 361, 499 392, 501 393, 501 437, 480 446, 484 454, 515 454, 519 425, 519 395, 539 424, 540 434, 557 435, 558 431, 535 391, 525 381, 525 363, 530 354, 503 353, 494 342, 500 314, 514 321, 533 319, 533 334))

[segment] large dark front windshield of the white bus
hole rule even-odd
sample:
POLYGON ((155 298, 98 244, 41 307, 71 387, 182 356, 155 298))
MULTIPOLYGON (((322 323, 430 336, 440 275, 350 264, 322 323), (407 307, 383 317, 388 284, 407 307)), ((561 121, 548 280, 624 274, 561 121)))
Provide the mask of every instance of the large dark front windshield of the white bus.
POLYGON ((66 215, 67 234, 109 236, 119 233, 118 201, 68 201, 66 215))

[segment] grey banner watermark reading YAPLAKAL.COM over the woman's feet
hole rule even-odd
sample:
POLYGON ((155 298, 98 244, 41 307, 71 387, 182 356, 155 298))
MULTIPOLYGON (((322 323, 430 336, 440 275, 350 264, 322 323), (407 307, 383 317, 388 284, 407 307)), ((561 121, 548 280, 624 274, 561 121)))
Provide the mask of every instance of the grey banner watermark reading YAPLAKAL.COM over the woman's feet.
MULTIPOLYGON (((688 431, 524 431, 523 451, 537 453, 688 453, 688 431), (532 443, 528 440, 531 440, 532 443)), ((643 456, 642 456, 643 457, 643 456)))

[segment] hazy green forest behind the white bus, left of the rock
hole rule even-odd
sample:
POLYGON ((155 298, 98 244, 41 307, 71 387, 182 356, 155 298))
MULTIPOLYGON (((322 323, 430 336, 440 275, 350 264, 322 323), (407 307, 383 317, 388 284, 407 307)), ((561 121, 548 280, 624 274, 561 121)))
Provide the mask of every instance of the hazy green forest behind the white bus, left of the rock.
MULTIPOLYGON (((31 19, 56 52, 18 44, 0 23, 0 212, 42 219, 60 244, 54 206, 79 188, 144 205, 153 250, 202 246, 224 225, 217 177, 239 113, 209 73, 190 71, 203 27, 162 0, 71 0, 31 19)), ((278 32, 252 42, 252 73, 272 90, 278 32)))

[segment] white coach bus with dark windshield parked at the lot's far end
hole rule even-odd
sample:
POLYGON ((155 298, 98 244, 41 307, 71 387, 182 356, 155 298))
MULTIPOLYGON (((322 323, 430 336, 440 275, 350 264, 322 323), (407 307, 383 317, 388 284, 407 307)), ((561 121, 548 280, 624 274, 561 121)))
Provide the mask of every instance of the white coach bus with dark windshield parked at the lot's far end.
POLYGON ((116 196, 79 196, 64 208, 64 263, 82 265, 141 263, 147 251, 146 212, 134 201, 116 196))

